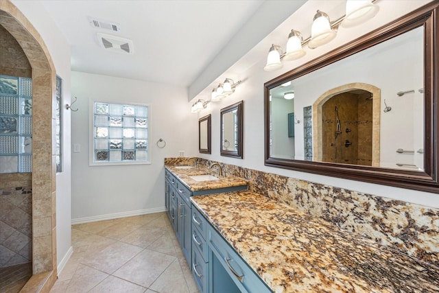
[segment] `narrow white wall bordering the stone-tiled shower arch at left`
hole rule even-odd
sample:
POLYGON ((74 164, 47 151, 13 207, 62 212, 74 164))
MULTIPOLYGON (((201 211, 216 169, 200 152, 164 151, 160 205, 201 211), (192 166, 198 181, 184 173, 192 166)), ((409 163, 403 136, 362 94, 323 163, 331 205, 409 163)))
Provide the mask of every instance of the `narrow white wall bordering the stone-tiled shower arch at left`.
MULTIPOLYGON (((70 45, 38 1, 12 1, 43 38, 63 80, 63 104, 70 104, 70 45)), ((70 111, 62 112, 64 172, 56 176, 56 253, 58 268, 71 248, 70 111)), ((61 264, 62 265, 62 264, 61 264)))

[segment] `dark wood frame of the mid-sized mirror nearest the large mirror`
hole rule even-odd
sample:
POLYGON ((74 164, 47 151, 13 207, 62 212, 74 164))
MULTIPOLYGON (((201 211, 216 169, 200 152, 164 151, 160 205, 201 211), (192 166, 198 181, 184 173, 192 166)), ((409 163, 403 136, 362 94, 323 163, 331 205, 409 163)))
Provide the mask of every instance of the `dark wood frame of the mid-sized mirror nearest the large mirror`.
MULTIPOLYGON (((226 108, 221 109, 221 124, 219 126, 221 129, 219 130, 219 133, 221 133, 221 140, 219 141, 219 150, 221 150, 222 156, 232 156, 235 158, 242 159, 242 143, 243 143, 243 127, 244 127, 244 119, 242 117, 243 115, 243 107, 244 107, 244 101, 237 102, 233 105, 230 105, 226 108), (224 149, 224 115, 227 113, 230 113, 232 111, 237 111, 237 129, 235 133, 236 137, 236 143, 237 147, 236 150, 225 150, 224 149)), ((235 140, 235 139, 234 139, 235 140)))

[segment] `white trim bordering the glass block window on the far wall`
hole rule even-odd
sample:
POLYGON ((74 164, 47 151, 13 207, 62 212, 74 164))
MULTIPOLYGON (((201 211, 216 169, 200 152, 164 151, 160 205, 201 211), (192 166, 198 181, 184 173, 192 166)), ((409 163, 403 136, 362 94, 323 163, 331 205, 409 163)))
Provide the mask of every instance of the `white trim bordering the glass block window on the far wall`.
POLYGON ((141 103, 132 103, 120 100, 88 100, 88 165, 91 167, 103 167, 103 166, 115 166, 115 165, 151 165, 151 129, 150 129, 150 121, 151 121, 151 106, 150 104, 141 104, 141 103), (95 103, 102 104, 121 104, 121 105, 130 105, 130 106, 145 106, 147 107, 147 161, 120 161, 120 162, 95 162, 95 103))

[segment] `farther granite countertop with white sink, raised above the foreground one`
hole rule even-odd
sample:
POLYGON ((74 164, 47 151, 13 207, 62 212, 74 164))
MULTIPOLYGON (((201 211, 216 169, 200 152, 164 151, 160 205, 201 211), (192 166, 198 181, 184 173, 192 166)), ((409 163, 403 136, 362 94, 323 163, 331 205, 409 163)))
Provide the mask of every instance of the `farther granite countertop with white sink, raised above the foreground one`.
POLYGON ((237 176, 218 176, 217 169, 193 167, 190 169, 178 169, 176 166, 165 165, 165 168, 182 181, 191 191, 220 189, 248 185, 247 180, 237 176), (211 174, 218 177, 218 180, 195 181, 190 176, 211 174))

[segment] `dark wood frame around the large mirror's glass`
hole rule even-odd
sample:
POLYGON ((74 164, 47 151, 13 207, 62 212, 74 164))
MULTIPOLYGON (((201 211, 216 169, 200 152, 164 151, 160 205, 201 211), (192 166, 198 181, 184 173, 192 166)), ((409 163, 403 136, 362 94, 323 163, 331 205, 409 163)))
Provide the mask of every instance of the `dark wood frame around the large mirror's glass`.
POLYGON ((438 181, 438 1, 431 2, 388 25, 380 27, 352 42, 339 47, 305 65, 284 73, 264 84, 265 165, 293 169, 325 176, 390 185, 439 194, 438 181), (322 163, 296 159, 278 159, 270 156, 270 89, 288 80, 327 66, 337 60, 377 45, 416 27, 424 28, 424 171, 390 169, 341 163, 322 163))

